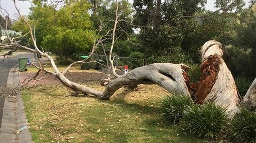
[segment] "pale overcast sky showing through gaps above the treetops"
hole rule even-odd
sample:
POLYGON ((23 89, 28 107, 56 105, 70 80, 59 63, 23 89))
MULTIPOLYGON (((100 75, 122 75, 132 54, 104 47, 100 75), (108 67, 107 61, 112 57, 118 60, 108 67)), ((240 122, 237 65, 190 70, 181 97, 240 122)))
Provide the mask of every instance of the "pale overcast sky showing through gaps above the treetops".
MULTIPOLYGON (((0 1, 1 1, 1 6, 4 7, 4 9, 6 9, 8 11, 8 13, 10 14, 11 19, 17 19, 17 11, 15 10, 13 1, 12 0, 0 0, 0 1)), ((250 0, 245 0, 245 2, 246 2, 245 7, 249 6, 249 1, 250 0)), ((22 15, 29 14, 29 12, 30 12, 29 7, 31 6, 30 2, 28 2, 26 0, 24 2, 22 2, 22 0, 20 0, 20 1, 16 0, 16 3, 20 9, 20 12, 22 15)), ((214 7, 214 0, 207 0, 207 4, 205 7, 207 10, 211 10, 211 11, 216 10, 216 8, 214 7)), ((6 14, 4 13, 4 15, 6 15, 6 14)))

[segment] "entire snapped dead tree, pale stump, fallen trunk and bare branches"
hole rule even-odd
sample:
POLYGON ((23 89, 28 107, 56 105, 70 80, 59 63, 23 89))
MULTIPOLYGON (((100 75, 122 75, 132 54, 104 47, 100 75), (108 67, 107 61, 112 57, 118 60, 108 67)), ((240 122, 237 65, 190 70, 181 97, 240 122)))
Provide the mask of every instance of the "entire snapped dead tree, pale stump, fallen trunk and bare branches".
MULTIPOLYGON (((13 2, 15 5, 15 0, 13 2)), ((17 11, 19 12, 18 9, 17 11)), ((44 51, 40 51, 40 49, 38 49, 35 39, 33 38, 33 32, 30 25, 25 19, 24 21, 30 29, 30 35, 32 37, 35 49, 19 45, 19 43, 13 39, 10 39, 10 44, 2 45, 2 47, 14 46, 33 53, 41 54, 43 57, 48 58, 55 72, 44 70, 42 64, 40 64, 40 67, 37 68, 42 72, 48 72, 55 75, 65 87, 74 91, 76 94, 90 94, 99 99, 108 99, 116 90, 123 86, 157 83, 172 94, 190 96, 195 103, 204 104, 211 101, 221 105, 227 109, 226 111, 230 118, 232 118, 238 112, 238 106, 241 104, 241 101, 239 99, 234 78, 232 77, 232 74, 225 63, 227 53, 222 47, 221 43, 218 41, 207 41, 201 49, 201 78, 198 83, 189 83, 189 77, 186 72, 189 67, 184 64, 155 63, 136 68, 121 76, 114 76, 114 78, 107 80, 108 84, 106 85, 106 88, 103 91, 99 91, 67 79, 65 77, 67 70, 60 72, 52 57, 44 51)), ((99 44, 101 41, 98 40, 96 43, 99 44)), ((96 46, 92 48, 91 54, 95 51, 95 48, 96 46)), ((112 59, 110 59, 110 61, 111 60, 112 59)), ((85 61, 78 61, 73 64, 82 62, 85 61)), ((72 65, 70 65, 69 68, 72 65)), ((112 69, 114 68, 112 67, 112 69)), ((256 79, 243 100, 243 103, 250 107, 254 107, 256 104, 255 85, 256 79)))

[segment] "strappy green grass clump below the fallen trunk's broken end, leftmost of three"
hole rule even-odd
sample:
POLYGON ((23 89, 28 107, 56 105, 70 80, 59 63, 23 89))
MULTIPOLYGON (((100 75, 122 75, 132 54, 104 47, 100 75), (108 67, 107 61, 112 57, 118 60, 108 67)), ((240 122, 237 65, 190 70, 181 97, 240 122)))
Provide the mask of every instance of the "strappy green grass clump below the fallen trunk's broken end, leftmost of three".
POLYGON ((184 117, 184 110, 192 105, 192 100, 189 96, 167 96, 161 102, 162 115, 166 122, 171 124, 179 124, 184 117))

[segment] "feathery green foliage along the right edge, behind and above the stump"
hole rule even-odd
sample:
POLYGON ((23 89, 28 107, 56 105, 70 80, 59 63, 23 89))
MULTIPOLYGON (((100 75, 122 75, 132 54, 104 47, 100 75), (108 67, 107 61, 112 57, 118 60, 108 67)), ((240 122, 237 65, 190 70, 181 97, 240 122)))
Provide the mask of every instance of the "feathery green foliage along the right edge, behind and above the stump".
POLYGON ((240 62, 237 60, 239 64, 235 64, 237 66, 244 66, 242 71, 239 71, 239 68, 237 68, 237 72, 242 72, 246 76, 254 78, 256 76, 256 4, 252 5, 251 9, 245 10, 239 14, 233 26, 235 33, 232 35, 232 39, 234 40, 234 46, 239 47, 234 50, 234 58, 236 58, 235 56, 241 58, 240 62), (239 52, 242 52, 244 56, 239 56, 239 52), (242 61, 244 62, 242 63, 242 61))

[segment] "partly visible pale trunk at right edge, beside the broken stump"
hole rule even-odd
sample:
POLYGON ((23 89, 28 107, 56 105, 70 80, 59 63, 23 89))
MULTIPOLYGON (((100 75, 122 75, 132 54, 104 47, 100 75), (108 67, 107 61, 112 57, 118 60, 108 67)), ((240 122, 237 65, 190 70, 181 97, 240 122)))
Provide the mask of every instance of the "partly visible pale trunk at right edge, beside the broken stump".
POLYGON ((255 107, 256 107, 256 78, 253 80, 252 85, 246 92, 243 102, 247 107, 249 107, 250 110, 255 109, 255 107))

